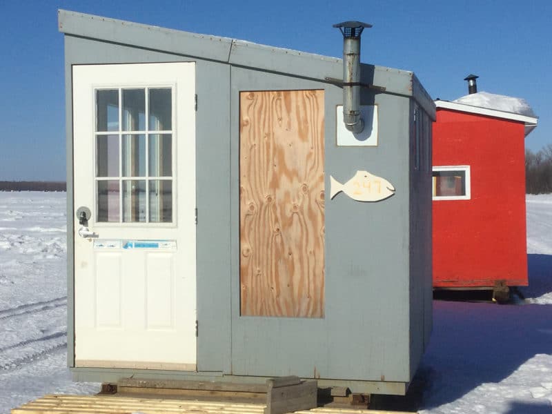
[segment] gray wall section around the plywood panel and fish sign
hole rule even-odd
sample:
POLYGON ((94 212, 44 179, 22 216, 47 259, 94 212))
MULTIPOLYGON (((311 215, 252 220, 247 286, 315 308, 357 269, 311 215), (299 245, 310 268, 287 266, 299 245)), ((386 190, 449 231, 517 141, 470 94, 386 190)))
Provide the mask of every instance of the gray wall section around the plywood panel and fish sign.
POLYGON ((234 375, 408 381, 408 102, 365 91, 380 106, 380 146, 335 144, 336 86, 232 68, 231 240, 234 375), (239 92, 325 90, 326 313, 324 319, 239 315, 239 92), (404 119, 401 121, 400 119, 404 119), (398 120, 397 120, 398 119, 398 120), (397 194, 379 203, 329 197, 330 175, 357 170, 391 181, 397 194))

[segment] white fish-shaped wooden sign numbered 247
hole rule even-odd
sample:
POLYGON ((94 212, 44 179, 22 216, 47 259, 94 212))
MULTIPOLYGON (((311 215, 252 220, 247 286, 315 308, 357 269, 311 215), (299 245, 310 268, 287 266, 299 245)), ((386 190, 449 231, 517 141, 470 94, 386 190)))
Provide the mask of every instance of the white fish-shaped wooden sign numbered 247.
POLYGON ((368 171, 357 171, 345 184, 330 176, 330 198, 333 199, 342 191, 356 201, 380 201, 395 194, 395 187, 386 179, 368 171))

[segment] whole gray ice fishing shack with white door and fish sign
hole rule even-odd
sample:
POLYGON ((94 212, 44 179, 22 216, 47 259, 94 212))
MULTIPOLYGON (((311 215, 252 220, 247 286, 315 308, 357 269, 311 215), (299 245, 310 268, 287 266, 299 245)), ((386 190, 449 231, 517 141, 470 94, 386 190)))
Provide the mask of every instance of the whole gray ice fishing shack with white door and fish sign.
POLYGON ((412 72, 354 68, 359 25, 339 25, 344 70, 59 11, 75 380, 406 392, 431 332, 435 107, 412 72))

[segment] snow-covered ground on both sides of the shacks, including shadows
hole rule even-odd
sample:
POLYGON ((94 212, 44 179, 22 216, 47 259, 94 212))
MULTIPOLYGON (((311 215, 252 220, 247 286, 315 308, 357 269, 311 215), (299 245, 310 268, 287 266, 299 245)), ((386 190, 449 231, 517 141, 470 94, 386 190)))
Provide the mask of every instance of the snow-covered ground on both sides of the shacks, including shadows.
MULTIPOLYGON (((66 368, 66 194, 0 192, 0 413, 95 393, 66 368)), ((434 302, 421 413, 552 413, 552 195, 527 196, 517 305, 434 302)))

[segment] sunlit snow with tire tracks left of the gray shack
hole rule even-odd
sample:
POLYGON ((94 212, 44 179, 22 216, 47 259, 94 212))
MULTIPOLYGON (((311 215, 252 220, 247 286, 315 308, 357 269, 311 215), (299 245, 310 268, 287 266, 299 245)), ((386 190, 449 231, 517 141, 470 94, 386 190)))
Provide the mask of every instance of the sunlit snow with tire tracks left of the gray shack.
POLYGON ((66 193, 0 192, 0 413, 91 393, 67 366, 66 193))

